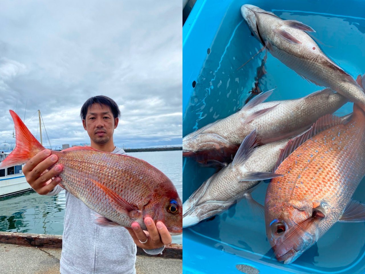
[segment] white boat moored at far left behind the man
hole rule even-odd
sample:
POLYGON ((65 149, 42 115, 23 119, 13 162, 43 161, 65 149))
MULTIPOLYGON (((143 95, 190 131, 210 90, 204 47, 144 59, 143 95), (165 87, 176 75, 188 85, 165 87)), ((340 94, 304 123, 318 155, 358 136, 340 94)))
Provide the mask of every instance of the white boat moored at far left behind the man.
MULTIPOLYGON (((0 153, 0 162, 9 154, 10 152, 0 153)), ((23 165, 0 169, 0 197, 32 190, 23 174, 23 165)))

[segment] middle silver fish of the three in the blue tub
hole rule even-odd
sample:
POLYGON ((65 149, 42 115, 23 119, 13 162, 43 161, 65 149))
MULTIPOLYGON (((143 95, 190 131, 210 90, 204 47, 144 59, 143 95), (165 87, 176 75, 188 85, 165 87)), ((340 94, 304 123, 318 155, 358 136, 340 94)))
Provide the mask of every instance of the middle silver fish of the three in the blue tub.
POLYGON ((295 136, 347 102, 329 89, 299 99, 264 102, 271 93, 257 95, 240 111, 189 133, 183 138, 183 156, 202 164, 230 163, 252 130, 257 129, 260 144, 295 136))

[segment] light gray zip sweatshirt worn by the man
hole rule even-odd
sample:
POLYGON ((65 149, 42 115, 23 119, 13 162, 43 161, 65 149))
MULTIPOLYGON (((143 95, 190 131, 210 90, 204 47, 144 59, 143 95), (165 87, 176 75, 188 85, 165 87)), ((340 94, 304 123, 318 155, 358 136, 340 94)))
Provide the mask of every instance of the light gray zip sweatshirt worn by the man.
MULTIPOLYGON (((125 154, 121 148, 112 153, 125 154)), ((62 189, 56 186, 53 196, 62 189)), ((62 235, 61 274, 135 274, 137 247, 124 227, 101 227, 93 223, 95 213, 66 191, 66 212, 62 235)), ((159 254, 164 250, 145 250, 159 254)))

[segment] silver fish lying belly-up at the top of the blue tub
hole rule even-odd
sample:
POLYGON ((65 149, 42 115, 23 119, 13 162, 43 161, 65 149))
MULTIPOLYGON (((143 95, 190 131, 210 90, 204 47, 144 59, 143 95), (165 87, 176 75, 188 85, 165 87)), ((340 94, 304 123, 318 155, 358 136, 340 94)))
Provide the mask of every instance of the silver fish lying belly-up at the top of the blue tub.
POLYGON ((311 27, 283 20, 254 5, 243 5, 241 14, 251 32, 269 52, 303 78, 331 88, 365 110, 365 93, 356 81, 326 56, 306 33, 311 27))

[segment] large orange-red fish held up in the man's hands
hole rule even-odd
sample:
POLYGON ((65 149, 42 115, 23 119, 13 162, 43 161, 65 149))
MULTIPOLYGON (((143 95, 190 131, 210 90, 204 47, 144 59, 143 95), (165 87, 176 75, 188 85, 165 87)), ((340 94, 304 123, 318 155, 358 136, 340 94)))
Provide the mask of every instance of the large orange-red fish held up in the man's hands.
MULTIPOLYGON (((26 163, 45 148, 30 133, 16 113, 16 147, 0 168, 26 163)), ((98 224, 130 227, 138 222, 143 229, 145 217, 162 221, 173 234, 182 233, 182 203, 170 179, 143 160, 97 151, 90 147, 73 147, 51 151, 63 169, 58 175, 61 186, 81 199, 103 217, 98 224)))

